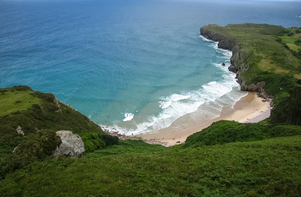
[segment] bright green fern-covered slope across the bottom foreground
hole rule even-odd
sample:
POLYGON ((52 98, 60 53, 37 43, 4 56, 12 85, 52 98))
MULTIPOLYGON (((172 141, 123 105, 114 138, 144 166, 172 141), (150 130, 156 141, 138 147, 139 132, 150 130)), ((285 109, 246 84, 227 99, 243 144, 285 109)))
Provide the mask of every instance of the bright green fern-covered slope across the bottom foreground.
POLYGON ((301 136, 165 148, 142 141, 36 162, 3 196, 299 196, 301 136))

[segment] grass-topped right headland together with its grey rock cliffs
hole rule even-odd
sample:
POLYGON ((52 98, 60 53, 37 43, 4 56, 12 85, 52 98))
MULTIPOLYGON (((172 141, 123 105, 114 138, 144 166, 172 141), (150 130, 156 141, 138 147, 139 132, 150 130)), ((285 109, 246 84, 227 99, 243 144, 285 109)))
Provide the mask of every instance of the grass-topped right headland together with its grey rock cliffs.
POLYGON ((287 92, 296 84, 301 61, 277 41, 281 26, 266 24, 239 24, 220 27, 207 25, 200 33, 219 42, 218 48, 231 50, 229 70, 237 71, 237 82, 242 91, 276 95, 287 92))

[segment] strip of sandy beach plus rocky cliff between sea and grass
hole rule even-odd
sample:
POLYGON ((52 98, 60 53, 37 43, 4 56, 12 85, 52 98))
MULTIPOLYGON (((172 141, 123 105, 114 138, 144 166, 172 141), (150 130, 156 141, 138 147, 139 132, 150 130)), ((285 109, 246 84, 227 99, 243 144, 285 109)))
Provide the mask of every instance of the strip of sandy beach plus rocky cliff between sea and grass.
MULTIPOLYGON (((218 42, 218 48, 229 50, 232 52, 232 57, 230 59, 231 66, 228 67, 228 70, 236 73, 236 79, 239 83, 242 91, 247 91, 248 94, 238 100, 233 106, 222 107, 221 114, 219 117, 211 119, 207 122, 204 122, 205 117, 199 117, 193 124, 185 122, 187 129, 177 130, 172 126, 157 130, 156 133, 142 133, 137 135, 120 135, 118 132, 113 132, 111 134, 117 135, 119 138, 124 139, 142 139, 146 143, 150 144, 161 144, 164 146, 172 146, 176 144, 184 143, 186 138, 193 133, 199 132, 204 128, 210 126, 213 122, 220 120, 230 120, 237 121, 241 123, 256 123, 268 118, 270 116, 270 101, 268 95, 266 95, 262 89, 265 85, 264 82, 246 85, 244 84, 244 79, 239 75, 242 68, 237 67, 235 62, 237 58, 234 57, 236 53, 239 53, 238 46, 233 39, 229 39, 223 35, 214 34, 211 35, 211 32, 204 31, 202 34, 202 28, 200 30, 201 36, 204 38, 218 42), (204 34, 205 32, 205 34, 204 34), (208 35, 206 35, 208 34, 208 35), (223 40, 224 39, 224 40, 223 40), (223 42, 221 42, 223 41, 223 42)), ((206 116, 207 118, 207 116, 206 116)), ((185 119, 184 119, 185 120, 185 119)))

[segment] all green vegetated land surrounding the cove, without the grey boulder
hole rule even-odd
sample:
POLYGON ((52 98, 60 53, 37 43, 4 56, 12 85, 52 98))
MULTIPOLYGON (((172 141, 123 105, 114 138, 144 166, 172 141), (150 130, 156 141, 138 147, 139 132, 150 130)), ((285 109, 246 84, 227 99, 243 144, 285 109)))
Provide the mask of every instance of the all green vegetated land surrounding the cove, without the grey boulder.
POLYGON ((269 119, 218 121, 184 144, 164 147, 108 135, 53 94, 0 89, 0 196, 301 196, 301 65, 299 48, 289 45, 298 47, 298 37, 288 36, 297 29, 206 28, 239 41, 250 66, 245 77, 264 80, 276 95, 269 119), (58 130, 81 136, 82 157, 51 155, 58 130))

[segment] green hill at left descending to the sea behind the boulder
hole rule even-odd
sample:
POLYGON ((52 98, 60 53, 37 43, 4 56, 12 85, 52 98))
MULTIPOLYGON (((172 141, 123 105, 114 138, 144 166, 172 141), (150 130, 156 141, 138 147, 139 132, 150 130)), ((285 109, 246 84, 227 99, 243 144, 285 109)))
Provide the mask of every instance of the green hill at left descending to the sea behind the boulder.
POLYGON ((33 91, 27 86, 0 89, 0 109, 0 179, 8 171, 28 163, 27 160, 33 161, 33 157, 45 157, 46 152, 37 151, 43 149, 40 139, 49 138, 52 136, 49 133, 55 131, 70 130, 79 134, 87 152, 103 148, 106 143, 117 143, 89 118, 57 101, 53 94, 33 91), (24 136, 16 131, 18 126, 24 136), (48 132, 44 132, 45 129, 48 132), (12 151, 20 143, 27 144, 29 150, 14 158, 16 154, 13 156, 12 151), (37 144, 41 147, 33 150, 37 144))

